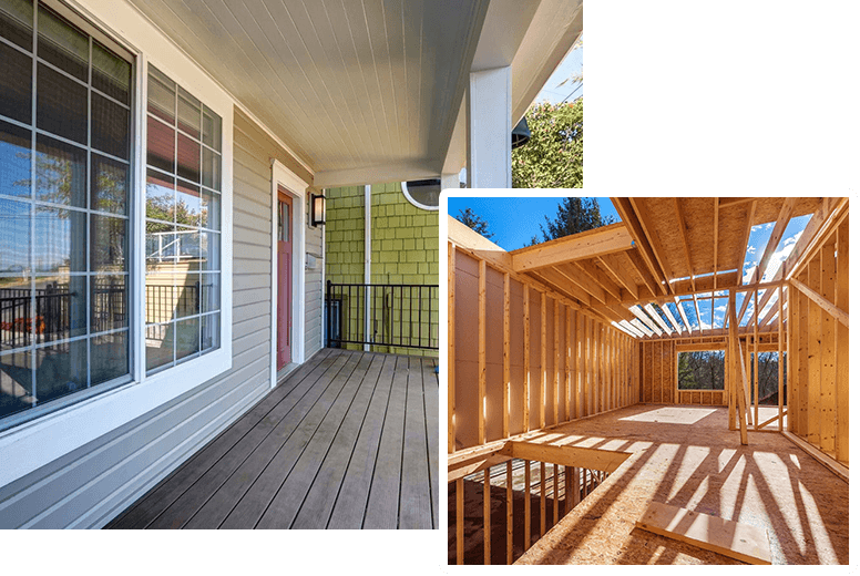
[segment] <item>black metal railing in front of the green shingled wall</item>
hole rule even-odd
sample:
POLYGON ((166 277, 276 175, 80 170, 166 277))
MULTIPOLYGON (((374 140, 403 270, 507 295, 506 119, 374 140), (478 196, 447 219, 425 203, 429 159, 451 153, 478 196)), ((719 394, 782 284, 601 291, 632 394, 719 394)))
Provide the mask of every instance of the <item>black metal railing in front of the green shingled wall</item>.
POLYGON ((370 344, 439 348, 439 287, 418 284, 326 282, 330 348, 370 344))

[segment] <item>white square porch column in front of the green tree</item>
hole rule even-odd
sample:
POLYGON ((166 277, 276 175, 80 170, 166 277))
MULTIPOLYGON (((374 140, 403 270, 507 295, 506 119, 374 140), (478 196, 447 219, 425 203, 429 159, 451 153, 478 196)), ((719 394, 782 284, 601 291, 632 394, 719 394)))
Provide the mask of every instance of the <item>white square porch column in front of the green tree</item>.
POLYGON ((465 162, 470 188, 511 187, 511 66, 469 74, 465 162))

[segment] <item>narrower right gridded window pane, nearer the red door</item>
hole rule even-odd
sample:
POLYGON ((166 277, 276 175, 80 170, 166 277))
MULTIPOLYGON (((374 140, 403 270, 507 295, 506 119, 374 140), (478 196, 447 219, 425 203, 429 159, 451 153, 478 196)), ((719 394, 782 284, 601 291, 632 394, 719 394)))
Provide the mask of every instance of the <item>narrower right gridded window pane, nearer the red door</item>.
POLYGON ((221 346, 221 117, 150 66, 146 371, 221 346))

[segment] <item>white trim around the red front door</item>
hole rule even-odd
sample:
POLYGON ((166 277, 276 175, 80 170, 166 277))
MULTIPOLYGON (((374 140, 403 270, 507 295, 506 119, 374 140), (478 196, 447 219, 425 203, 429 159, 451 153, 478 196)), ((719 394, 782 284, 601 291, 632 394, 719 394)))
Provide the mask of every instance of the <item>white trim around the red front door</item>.
MULTIPOLYGON (((305 362, 305 213, 307 212, 305 191, 310 184, 301 179, 280 162, 272 161, 272 335, 269 387, 277 385, 277 320, 278 320, 278 187, 293 197, 293 363, 305 362)), ((287 364, 289 366, 289 364, 287 364)))

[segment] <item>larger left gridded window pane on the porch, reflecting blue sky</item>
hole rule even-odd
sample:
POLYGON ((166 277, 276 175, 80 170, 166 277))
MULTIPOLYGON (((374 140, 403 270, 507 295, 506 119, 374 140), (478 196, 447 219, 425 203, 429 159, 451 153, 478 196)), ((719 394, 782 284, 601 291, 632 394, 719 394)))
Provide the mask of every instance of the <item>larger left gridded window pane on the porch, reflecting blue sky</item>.
POLYGON ((131 380, 131 85, 42 2, 0 4, 0 419, 131 380))

